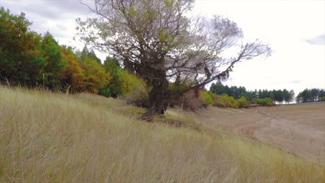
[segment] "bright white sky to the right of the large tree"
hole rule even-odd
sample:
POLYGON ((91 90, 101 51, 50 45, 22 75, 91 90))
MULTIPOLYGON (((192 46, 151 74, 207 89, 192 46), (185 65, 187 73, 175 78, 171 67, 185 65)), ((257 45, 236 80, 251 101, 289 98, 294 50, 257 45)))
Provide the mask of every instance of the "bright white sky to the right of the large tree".
POLYGON ((197 1, 197 12, 237 22, 248 40, 269 43, 272 56, 235 66, 227 85, 248 89, 325 88, 325 45, 306 40, 325 33, 325 1, 197 1), (299 82, 292 82, 299 81, 299 82))

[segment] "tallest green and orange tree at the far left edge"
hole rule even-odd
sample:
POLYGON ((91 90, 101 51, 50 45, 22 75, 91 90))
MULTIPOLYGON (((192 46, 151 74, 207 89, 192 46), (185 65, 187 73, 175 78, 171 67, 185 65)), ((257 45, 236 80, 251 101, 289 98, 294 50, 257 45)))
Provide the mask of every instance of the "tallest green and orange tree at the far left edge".
POLYGON ((39 55, 40 35, 29 30, 31 22, 25 14, 11 15, 0 8, 0 80, 35 85, 42 62, 39 55))

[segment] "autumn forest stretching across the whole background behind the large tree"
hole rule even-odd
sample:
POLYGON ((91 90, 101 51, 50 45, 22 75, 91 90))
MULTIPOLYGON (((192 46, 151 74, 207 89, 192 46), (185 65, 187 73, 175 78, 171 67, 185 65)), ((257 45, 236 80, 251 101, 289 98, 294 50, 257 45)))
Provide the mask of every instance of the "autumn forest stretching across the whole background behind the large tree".
MULTIPOLYGON (((102 63, 93 49, 84 46, 80 51, 70 46, 59 45, 51 33, 41 35, 32 31, 30 26, 31 21, 26 19, 24 13, 12 15, 10 10, 1 8, 0 81, 2 83, 59 92, 89 92, 114 98, 135 91, 133 95, 138 96, 133 98, 135 100, 140 98, 142 100, 140 105, 147 107, 152 86, 135 71, 126 67, 125 62, 121 65, 116 58, 107 57, 102 63)), ((176 80, 174 84, 169 83, 170 90, 172 93, 183 95, 188 91, 184 89, 188 83, 188 80, 183 82, 176 80)), ((201 103, 205 105, 215 103, 220 107, 247 107, 250 103, 271 106, 275 103, 325 100, 324 89, 305 89, 295 98, 293 90, 247 91, 245 87, 228 87, 218 81, 210 86, 210 92, 204 90, 202 85, 201 103), (225 94, 226 96, 222 96, 225 94)))

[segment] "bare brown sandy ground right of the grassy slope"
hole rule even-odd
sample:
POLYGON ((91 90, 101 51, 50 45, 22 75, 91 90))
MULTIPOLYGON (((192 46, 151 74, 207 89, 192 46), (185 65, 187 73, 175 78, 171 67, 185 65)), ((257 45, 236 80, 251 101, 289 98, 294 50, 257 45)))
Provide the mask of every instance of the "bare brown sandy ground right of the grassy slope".
POLYGON ((247 110, 211 107, 199 116, 215 127, 325 162, 325 102, 247 110))

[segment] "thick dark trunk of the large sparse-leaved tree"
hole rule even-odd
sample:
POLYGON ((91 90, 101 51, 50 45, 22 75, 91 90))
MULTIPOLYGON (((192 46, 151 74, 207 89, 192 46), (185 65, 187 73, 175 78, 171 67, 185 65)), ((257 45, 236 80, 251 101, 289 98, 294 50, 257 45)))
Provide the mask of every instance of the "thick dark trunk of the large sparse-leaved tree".
MULTIPOLYGON (((156 77, 158 76, 156 72, 156 77)), ((169 84, 165 72, 160 71, 158 78, 151 80, 152 89, 149 94, 149 107, 142 115, 142 120, 151 121, 154 114, 164 114, 169 103, 169 84)))

